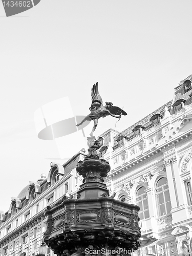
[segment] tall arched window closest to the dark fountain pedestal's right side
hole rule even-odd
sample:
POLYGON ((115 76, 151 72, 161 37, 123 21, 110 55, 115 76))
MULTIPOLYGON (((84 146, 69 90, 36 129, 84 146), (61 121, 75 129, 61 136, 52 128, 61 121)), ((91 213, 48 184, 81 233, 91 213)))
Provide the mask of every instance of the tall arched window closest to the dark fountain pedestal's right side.
POLYGON ((136 192, 137 205, 140 207, 139 218, 144 220, 150 217, 150 212, 148 211, 148 200, 145 192, 145 187, 140 187, 136 192))

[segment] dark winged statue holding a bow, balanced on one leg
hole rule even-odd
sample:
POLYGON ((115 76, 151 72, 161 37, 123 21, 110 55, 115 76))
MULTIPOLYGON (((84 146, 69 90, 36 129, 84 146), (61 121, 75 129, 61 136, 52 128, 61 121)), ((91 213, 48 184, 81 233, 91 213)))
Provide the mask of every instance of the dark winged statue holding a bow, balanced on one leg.
POLYGON ((89 108, 91 113, 86 116, 80 123, 77 124, 77 126, 79 126, 85 121, 93 120, 94 126, 90 133, 91 136, 93 136, 93 132, 97 127, 98 119, 100 117, 112 116, 119 118, 120 120, 121 115, 126 115, 126 112, 124 112, 118 106, 114 106, 112 102, 105 102, 105 105, 103 106, 103 101, 98 91, 98 82, 95 83, 91 89, 91 98, 92 104, 89 108))

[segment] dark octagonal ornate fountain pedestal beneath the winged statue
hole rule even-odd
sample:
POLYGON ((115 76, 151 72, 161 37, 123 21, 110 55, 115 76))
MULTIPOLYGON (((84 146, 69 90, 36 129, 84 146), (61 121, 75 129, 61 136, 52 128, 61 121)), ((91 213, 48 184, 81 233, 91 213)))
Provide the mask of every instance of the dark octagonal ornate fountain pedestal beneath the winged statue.
POLYGON ((44 241, 58 256, 130 255, 140 245, 139 207, 109 197, 103 177, 110 165, 98 155, 88 155, 76 170, 84 178, 78 199, 46 210, 44 241))

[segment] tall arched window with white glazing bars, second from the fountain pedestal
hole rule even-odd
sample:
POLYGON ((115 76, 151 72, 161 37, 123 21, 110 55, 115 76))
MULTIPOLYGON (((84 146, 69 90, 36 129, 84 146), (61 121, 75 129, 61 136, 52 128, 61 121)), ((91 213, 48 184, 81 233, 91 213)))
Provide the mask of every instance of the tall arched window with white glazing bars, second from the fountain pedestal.
POLYGON ((156 184, 156 198, 158 216, 169 214, 172 209, 172 204, 170 203, 169 189, 167 179, 165 177, 159 179, 156 184))

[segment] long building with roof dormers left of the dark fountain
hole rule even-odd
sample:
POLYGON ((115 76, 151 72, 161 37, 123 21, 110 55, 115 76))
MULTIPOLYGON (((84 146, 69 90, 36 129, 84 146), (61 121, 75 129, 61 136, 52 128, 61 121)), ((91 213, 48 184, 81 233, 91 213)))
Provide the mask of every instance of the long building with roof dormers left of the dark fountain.
MULTIPOLYGON (((70 191, 76 197, 82 181, 75 168, 86 155, 82 151, 63 165, 51 162, 47 179, 42 174, 39 180, 30 181, 17 197, 11 198, 9 210, 0 211, 1 256, 34 256, 38 253, 46 229, 44 213, 47 206, 57 204, 70 191)), ((54 253, 48 248, 46 255, 54 253)))

